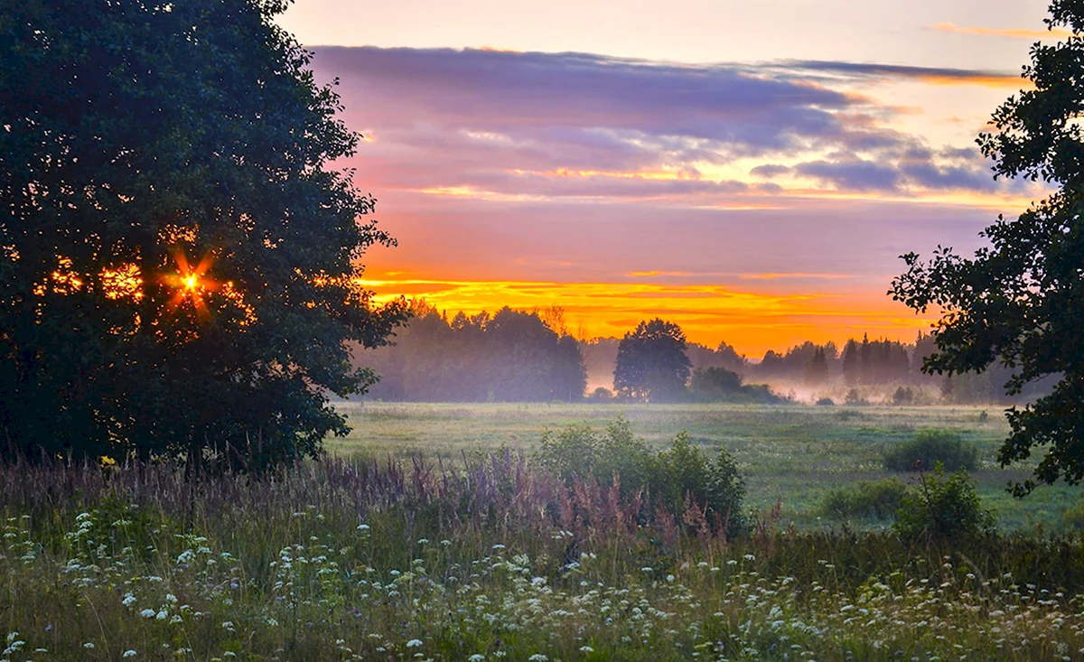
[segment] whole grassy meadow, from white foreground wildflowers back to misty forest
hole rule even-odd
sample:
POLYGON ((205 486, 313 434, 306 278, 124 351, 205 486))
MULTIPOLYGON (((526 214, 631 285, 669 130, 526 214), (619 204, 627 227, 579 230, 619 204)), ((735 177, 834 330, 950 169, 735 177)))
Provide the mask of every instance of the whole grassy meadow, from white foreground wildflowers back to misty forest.
POLYGON ((354 432, 274 476, 0 467, 0 660, 1082 660, 1071 490, 1001 496, 996 412, 346 404, 354 432), (645 509, 534 462, 618 415, 737 459, 753 514, 645 509), (957 429, 999 531, 817 520, 881 452, 957 429), (1002 503, 1007 504, 1002 510, 1002 503), (1008 512, 1008 515, 1006 515, 1008 512))

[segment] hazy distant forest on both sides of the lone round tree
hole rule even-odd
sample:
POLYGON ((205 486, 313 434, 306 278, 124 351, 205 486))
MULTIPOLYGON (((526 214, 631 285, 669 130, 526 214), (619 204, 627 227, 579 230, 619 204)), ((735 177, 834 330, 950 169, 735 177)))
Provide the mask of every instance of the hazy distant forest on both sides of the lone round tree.
MULTIPOLYGON (((356 353, 359 364, 380 376, 366 393, 369 400, 615 399, 614 369, 621 339, 573 338, 558 307, 503 308, 495 314, 460 312, 453 316, 425 301, 414 301, 412 308, 413 317, 397 330, 392 345, 356 353)), ((687 342, 685 353, 692 366, 687 400, 1009 403, 1036 398, 1053 384, 1050 379, 1030 384, 1021 395, 1010 398, 1004 385, 1011 371, 1001 365, 951 378, 927 375, 921 372, 922 359, 934 350, 933 337, 921 333, 914 343, 864 336, 848 340, 840 349, 834 342, 806 341, 784 353, 767 351, 759 361, 738 354, 726 342, 715 348, 687 342), (720 390, 722 374, 730 377, 723 382, 732 384, 732 390, 720 390)))

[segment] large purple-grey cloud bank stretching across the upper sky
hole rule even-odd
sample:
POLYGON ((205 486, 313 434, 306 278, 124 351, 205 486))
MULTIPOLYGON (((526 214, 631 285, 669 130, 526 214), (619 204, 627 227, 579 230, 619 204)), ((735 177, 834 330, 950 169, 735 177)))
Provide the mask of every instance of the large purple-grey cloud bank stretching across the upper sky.
POLYGON ((848 89, 1011 78, 996 72, 373 47, 321 47, 313 66, 339 79, 344 119, 371 138, 344 165, 377 192, 757 208, 789 195, 1009 187, 975 150, 927 145, 888 124, 892 106, 848 89))

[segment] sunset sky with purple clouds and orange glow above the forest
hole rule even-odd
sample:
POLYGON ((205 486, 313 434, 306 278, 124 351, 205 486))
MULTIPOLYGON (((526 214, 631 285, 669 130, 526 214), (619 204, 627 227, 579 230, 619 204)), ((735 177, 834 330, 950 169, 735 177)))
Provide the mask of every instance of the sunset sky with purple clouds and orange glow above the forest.
POLYGON ((899 256, 970 252, 1048 192, 975 139, 1028 82, 1045 1, 297 0, 280 24, 363 137, 337 167, 399 246, 378 297, 560 306, 751 358, 914 340, 899 256))

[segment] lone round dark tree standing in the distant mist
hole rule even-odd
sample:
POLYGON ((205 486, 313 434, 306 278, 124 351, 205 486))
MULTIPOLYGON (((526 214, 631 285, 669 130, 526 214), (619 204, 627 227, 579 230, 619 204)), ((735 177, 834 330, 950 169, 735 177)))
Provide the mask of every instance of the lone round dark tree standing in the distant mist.
POLYGON ((614 390, 623 398, 674 400, 685 390, 689 366, 680 326, 659 317, 641 322, 618 345, 614 390))

